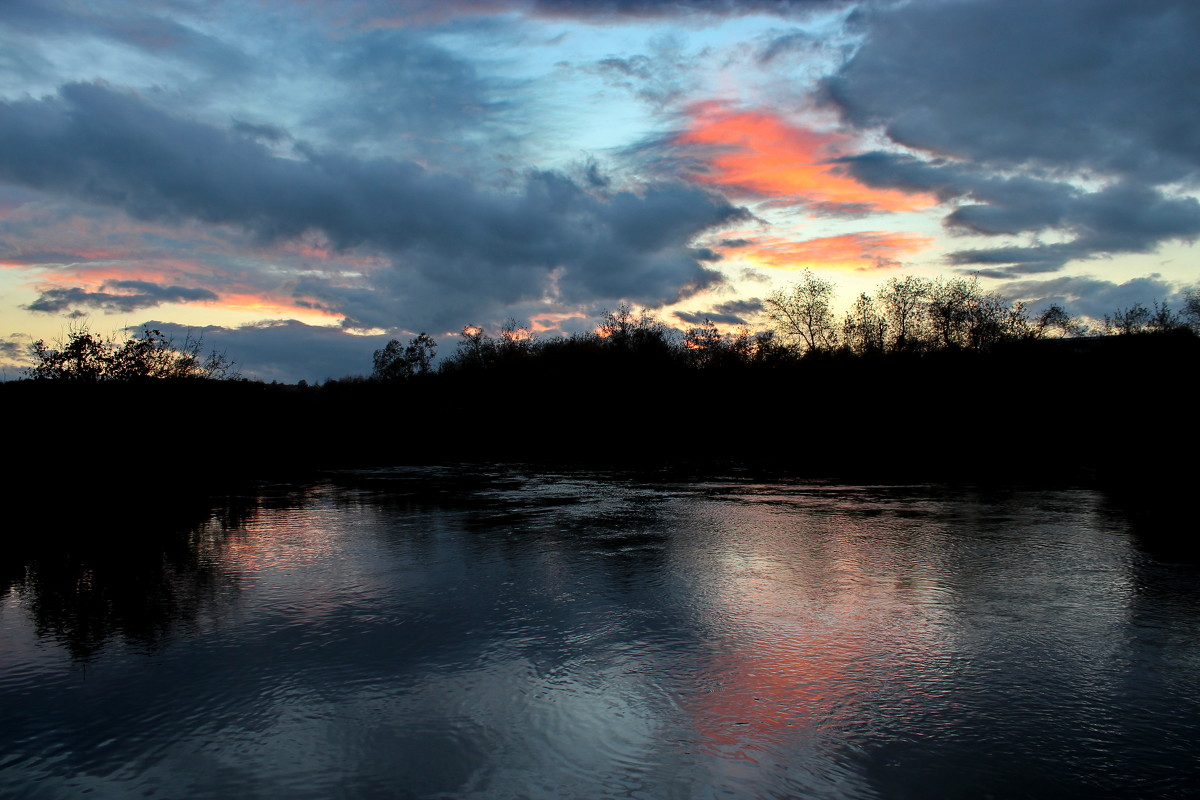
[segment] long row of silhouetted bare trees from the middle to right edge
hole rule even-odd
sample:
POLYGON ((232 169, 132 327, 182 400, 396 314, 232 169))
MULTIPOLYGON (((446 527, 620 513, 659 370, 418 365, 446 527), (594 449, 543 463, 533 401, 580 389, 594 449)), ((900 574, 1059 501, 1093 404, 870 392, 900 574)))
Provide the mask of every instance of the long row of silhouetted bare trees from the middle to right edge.
POLYGON ((799 281, 763 301, 773 327, 743 326, 722 332, 706 320, 678 331, 649 311, 619 306, 606 312, 590 331, 539 338, 509 320, 496 336, 467 325, 454 353, 434 362, 438 343, 427 333, 391 339, 374 353, 372 378, 401 380, 432 373, 460 374, 530 362, 565 366, 605 361, 730 367, 782 365, 822 354, 871 356, 890 353, 986 353, 1004 343, 1046 338, 1117 336, 1168 331, 1200 331, 1200 290, 1184 295, 1181 311, 1166 302, 1134 303, 1105 314, 1090 326, 1051 305, 1032 313, 985 291, 978 278, 893 277, 874 294, 862 293, 840 318, 834 312, 834 284, 810 270, 799 281))

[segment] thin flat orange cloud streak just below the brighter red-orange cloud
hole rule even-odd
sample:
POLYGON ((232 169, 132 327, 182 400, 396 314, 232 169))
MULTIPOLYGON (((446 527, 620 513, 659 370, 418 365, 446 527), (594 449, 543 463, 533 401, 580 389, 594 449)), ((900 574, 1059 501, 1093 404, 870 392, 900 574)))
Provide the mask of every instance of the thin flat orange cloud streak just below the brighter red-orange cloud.
POLYGON ((784 237, 751 239, 726 252, 761 266, 799 269, 838 266, 872 270, 894 266, 899 257, 919 252, 934 243, 930 236, 893 230, 868 230, 806 241, 784 237))

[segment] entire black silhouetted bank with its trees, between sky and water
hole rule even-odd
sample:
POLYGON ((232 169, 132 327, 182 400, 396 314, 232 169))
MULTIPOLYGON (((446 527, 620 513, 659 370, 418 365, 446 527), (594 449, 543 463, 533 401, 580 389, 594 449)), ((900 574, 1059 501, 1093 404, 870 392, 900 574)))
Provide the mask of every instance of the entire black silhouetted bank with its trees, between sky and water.
MULTIPOLYGON (((1177 311, 1132 306, 1087 330, 958 278, 895 278, 835 313, 832 287, 799 277, 764 303, 767 330, 677 330, 619 306, 570 336, 510 320, 464 327, 449 353, 427 333, 391 339, 370 377, 316 386, 218 380, 235 372, 199 341, 78 327, 58 347, 35 343, 34 380, 0 395, 35 421, 10 443, 30 492, 97 435, 112 463, 169 464, 174 482, 196 486, 473 459, 742 463, 871 480, 1190 476, 1172 473, 1147 432, 1170 431, 1172 452, 1195 449, 1190 393, 1157 391, 1200 361, 1195 293, 1177 311)), ((68 482, 124 497, 127 479, 68 482)))

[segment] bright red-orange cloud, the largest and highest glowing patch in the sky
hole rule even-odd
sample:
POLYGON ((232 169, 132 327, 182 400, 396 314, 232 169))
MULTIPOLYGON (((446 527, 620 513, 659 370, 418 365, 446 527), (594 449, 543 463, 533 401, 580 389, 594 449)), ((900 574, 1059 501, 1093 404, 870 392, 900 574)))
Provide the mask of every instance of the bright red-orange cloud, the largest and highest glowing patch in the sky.
POLYGON ((840 174, 829 161, 846 155, 845 137, 797 127, 764 112, 702 103, 674 144, 707 150, 706 169, 694 180, 733 192, 872 211, 916 211, 935 203, 929 194, 871 188, 840 174))

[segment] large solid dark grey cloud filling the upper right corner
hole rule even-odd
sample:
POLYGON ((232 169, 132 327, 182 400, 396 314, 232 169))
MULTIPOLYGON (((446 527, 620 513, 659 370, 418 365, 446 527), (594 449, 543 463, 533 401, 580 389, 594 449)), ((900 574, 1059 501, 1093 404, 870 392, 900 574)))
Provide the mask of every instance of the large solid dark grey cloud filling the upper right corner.
POLYGON ((1188 180, 1200 168, 1200 5, 926 0, 863 16, 827 84, 859 126, 956 158, 1188 180))

